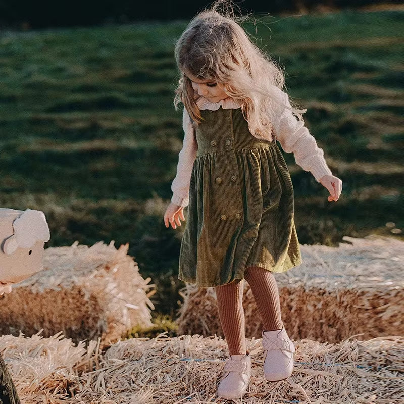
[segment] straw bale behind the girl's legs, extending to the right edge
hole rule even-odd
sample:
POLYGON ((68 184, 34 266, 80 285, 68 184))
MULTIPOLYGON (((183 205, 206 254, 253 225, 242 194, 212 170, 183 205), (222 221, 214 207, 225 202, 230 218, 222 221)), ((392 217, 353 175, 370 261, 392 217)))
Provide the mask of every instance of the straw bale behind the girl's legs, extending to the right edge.
MULTIPOLYGON (((339 342, 354 334, 363 340, 404 335, 404 242, 374 235, 343 239, 352 245, 301 245, 303 264, 274 274, 289 337, 339 342)), ((223 336, 214 288, 186 284, 180 293, 178 334, 223 336)), ((246 336, 261 338, 263 323, 247 282, 243 307, 246 336)))

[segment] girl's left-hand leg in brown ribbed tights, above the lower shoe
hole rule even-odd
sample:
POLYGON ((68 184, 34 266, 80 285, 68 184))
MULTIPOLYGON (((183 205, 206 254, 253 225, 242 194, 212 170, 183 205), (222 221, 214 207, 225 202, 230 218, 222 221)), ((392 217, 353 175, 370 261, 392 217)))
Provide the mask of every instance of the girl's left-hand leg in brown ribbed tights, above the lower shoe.
POLYGON ((242 279, 215 287, 220 324, 229 347, 229 355, 246 354, 243 291, 242 279))

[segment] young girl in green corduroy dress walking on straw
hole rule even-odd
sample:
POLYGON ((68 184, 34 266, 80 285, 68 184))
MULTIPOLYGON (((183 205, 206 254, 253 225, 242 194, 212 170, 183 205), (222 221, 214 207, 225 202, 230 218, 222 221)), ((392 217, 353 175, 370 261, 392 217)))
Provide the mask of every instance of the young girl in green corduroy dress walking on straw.
POLYGON ((229 348, 217 394, 241 397, 248 386, 243 279, 264 322, 264 375, 278 381, 293 370, 294 346, 281 319, 273 272, 301 263, 294 225, 293 187, 278 148, 293 152, 337 201, 342 181, 282 91, 283 72, 217 4, 198 14, 175 48, 181 72, 175 106, 184 104, 183 148, 173 196, 164 215, 175 229, 188 217, 178 278, 214 287, 229 348), (299 118, 297 119, 295 115, 299 118))

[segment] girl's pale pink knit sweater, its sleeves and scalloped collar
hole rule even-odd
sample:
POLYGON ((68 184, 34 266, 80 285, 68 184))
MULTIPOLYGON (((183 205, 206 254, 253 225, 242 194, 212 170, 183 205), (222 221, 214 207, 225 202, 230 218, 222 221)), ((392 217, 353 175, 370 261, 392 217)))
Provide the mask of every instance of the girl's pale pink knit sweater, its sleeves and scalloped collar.
MULTIPOLYGON (((282 91, 284 104, 290 106, 289 96, 282 91)), ((222 108, 240 108, 241 105, 234 99, 226 98, 218 103, 211 103, 205 98, 196 102, 199 110, 217 110, 222 108)), ((273 122, 276 139, 286 153, 293 153, 295 162, 305 171, 310 171, 317 182, 324 175, 332 175, 324 159, 324 151, 317 146, 316 139, 309 133, 304 122, 299 121, 290 110, 283 108, 278 119, 273 122)), ((184 108, 182 116, 184 141, 178 156, 177 175, 174 178, 171 190, 171 201, 179 206, 186 207, 189 203, 189 183, 192 167, 197 153, 197 143, 189 114, 184 108)), ((272 140, 270 137, 268 140, 272 140)))

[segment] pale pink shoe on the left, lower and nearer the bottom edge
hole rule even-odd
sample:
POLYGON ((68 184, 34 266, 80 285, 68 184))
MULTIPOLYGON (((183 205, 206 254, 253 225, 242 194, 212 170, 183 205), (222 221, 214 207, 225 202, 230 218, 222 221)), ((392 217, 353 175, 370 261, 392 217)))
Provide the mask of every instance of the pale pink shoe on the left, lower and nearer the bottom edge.
POLYGON ((217 395, 221 398, 235 399, 244 395, 251 377, 251 355, 231 355, 226 360, 223 371, 226 374, 221 379, 217 395))

